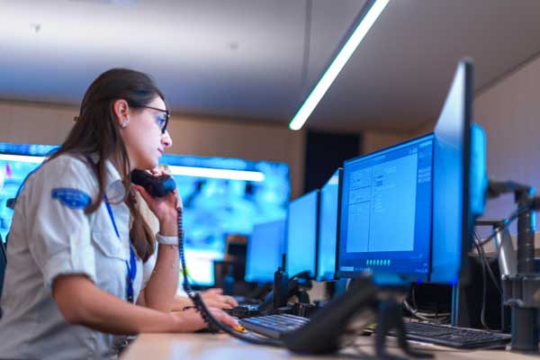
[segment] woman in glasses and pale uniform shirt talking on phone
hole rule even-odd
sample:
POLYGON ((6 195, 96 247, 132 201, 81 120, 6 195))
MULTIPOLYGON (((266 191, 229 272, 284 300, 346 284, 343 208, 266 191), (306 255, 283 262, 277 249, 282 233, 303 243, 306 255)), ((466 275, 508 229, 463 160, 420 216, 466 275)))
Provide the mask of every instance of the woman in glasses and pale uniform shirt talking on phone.
POLYGON ((115 358, 125 335, 205 328, 193 309, 170 313, 177 192, 154 199, 130 184, 132 169, 156 168, 171 146, 167 123, 164 96, 145 74, 112 69, 90 85, 66 141, 15 204, 0 320, 9 341, 0 341, 0 357, 115 358), (156 238, 135 191, 159 220, 156 238))

